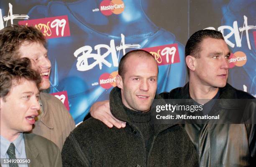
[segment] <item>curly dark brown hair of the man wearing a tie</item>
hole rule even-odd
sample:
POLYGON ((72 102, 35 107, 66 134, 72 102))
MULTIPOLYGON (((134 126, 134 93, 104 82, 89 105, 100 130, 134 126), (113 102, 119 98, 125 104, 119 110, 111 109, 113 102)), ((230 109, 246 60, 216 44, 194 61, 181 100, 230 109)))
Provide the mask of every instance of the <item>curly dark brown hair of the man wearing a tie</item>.
POLYGON ((28 58, 0 59, 0 97, 4 101, 13 86, 13 81, 18 83, 21 78, 34 81, 37 88, 41 83, 40 74, 31 68, 31 61, 28 58))

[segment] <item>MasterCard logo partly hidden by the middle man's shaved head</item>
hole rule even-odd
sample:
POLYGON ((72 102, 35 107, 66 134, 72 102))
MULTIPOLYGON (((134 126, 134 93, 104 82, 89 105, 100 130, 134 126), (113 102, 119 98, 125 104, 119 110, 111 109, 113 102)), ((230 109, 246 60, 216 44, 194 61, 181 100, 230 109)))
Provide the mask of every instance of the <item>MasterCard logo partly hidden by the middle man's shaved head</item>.
POLYGON ((103 73, 99 78, 100 86, 104 89, 110 89, 111 87, 115 87, 115 78, 118 75, 118 71, 114 71, 113 73, 103 73))

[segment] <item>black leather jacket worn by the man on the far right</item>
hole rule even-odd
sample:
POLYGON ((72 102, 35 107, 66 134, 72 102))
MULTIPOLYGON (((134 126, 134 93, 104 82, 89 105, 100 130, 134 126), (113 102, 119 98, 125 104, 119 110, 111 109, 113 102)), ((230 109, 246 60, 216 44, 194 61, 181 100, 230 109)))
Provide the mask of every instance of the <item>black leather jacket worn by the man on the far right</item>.
MULTIPOLYGON (((189 85, 160 94, 164 99, 189 99, 189 85)), ((219 99, 254 99, 228 83, 220 88, 219 99)), ((255 102, 255 101, 254 101, 255 102)), ((226 108, 220 103, 218 109, 226 108)), ((256 112, 255 103, 251 104, 256 112)), ((254 115, 255 116, 255 115, 254 115)), ((255 120, 255 119, 254 119, 255 120)), ((256 125, 184 124, 198 152, 200 167, 256 167, 256 125)))

